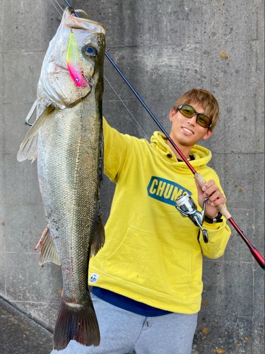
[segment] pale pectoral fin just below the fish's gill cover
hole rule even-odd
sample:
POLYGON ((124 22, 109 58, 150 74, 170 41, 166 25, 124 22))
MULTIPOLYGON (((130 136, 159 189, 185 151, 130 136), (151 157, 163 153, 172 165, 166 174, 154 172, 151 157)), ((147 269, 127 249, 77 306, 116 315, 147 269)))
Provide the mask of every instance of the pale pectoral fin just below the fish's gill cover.
POLYGON ((30 128, 28 133, 25 135, 23 142, 20 145, 20 149, 18 151, 18 161, 35 160, 37 158, 37 132, 39 131, 42 124, 45 122, 45 119, 54 115, 56 109, 53 105, 49 105, 45 111, 40 115, 35 123, 30 128))

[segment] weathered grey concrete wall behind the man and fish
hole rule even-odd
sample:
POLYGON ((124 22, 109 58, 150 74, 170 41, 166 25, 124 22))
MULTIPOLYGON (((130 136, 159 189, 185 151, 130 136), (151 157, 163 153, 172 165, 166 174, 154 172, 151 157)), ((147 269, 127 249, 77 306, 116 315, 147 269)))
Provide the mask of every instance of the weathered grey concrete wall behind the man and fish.
MULTIPOLYGON (((64 6, 64 1, 60 0, 64 6)), ((211 149, 228 210, 264 254, 264 1, 73 1, 107 28, 107 52, 155 116, 168 113, 192 88, 211 91, 220 122, 211 149)), ((34 251, 45 229, 36 162, 16 153, 35 101, 42 59, 59 25, 49 1, 0 0, 0 294, 52 328, 61 270, 38 266, 34 251)), ((148 137, 158 130, 109 62, 105 76, 148 137)), ((105 82, 104 115, 121 132, 144 137, 105 82)), ((105 178, 106 220, 114 185, 105 178)), ((204 260, 204 294, 194 353, 264 353, 264 270, 235 231, 217 260, 204 260)))

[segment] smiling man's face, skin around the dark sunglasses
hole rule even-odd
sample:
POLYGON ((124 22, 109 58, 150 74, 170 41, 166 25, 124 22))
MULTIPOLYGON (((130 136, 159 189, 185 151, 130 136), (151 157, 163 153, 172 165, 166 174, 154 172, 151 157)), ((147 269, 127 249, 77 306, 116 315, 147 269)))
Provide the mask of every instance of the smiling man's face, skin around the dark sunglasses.
MULTIPOLYGON (((189 103, 189 105, 191 105, 197 113, 204 114, 204 108, 199 103, 189 103)), ((170 110, 170 120, 172 121, 170 137, 176 144, 192 147, 199 142, 199 140, 206 140, 208 137, 211 137, 213 131, 201 127, 201 125, 196 122, 196 118, 197 115, 194 115, 192 118, 186 118, 179 110, 177 113, 174 108, 170 110)))

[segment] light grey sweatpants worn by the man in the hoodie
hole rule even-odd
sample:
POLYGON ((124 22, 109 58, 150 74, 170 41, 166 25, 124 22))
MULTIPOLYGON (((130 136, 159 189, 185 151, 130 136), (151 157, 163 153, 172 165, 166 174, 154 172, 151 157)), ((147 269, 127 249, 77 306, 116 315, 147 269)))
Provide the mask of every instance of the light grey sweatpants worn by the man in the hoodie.
POLYGON ((86 347, 71 341, 51 354, 191 354, 197 314, 146 317, 92 295, 100 326, 100 346, 86 347))

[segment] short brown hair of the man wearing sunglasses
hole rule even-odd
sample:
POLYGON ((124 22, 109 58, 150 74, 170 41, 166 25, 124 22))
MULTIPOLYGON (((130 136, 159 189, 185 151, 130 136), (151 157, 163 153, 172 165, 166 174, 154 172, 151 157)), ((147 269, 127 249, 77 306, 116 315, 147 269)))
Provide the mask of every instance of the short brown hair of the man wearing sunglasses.
POLYGON ((210 118, 213 122, 209 129, 213 130, 219 118, 219 105, 216 98, 209 91, 201 89, 192 89, 191 91, 187 91, 179 97, 179 99, 174 105, 174 109, 177 112, 179 105, 188 105, 191 103, 199 103, 202 105, 202 107, 204 108, 204 114, 207 115, 207 117, 210 118))

